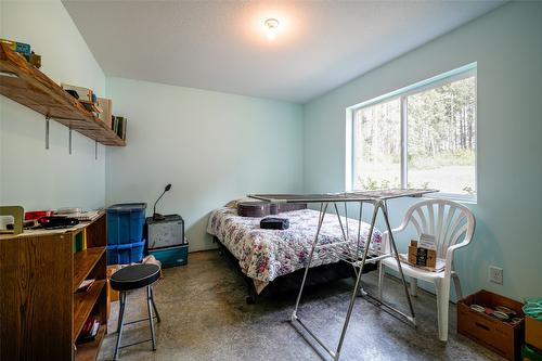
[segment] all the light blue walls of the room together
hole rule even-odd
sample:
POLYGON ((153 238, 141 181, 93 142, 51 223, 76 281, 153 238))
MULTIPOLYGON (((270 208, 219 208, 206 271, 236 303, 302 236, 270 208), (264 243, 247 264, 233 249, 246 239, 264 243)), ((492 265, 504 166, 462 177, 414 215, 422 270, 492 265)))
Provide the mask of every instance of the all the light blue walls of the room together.
MULTIPOLYGON (((0 35, 31 43, 46 74, 103 93, 105 77, 60 1, 0 1, 0 35)), ((478 229, 457 269, 466 292, 540 296, 540 18, 541 3, 507 4, 306 104, 305 114, 288 103, 111 78, 115 112, 130 121, 128 146, 107 149, 106 160, 103 146, 94 160, 93 142, 79 134, 68 155, 67 129, 54 123, 46 151, 42 116, 1 96, 0 203, 93 208, 106 197, 151 206, 171 182, 160 211, 183 215, 191 248, 207 248, 207 215, 231 198, 344 189, 346 107, 478 62, 478 229), (489 265, 504 268, 504 286, 488 283, 489 265)), ((393 224, 409 204, 391 204, 393 224)))

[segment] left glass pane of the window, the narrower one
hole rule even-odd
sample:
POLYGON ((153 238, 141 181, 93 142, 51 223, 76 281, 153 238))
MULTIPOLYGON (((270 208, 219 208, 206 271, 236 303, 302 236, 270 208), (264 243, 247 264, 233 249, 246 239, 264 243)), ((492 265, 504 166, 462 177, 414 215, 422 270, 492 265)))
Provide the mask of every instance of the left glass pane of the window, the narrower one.
POLYGON ((353 188, 401 186, 400 99, 356 111, 353 188))

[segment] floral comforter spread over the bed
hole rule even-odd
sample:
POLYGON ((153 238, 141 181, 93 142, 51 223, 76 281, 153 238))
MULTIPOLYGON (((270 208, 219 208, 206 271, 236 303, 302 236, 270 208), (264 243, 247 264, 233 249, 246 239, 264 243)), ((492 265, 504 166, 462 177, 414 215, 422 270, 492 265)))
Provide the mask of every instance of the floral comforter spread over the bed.
MULTIPOLYGON (((219 208, 212 211, 207 233, 218 240, 238 260, 243 272, 255 280, 256 288, 263 287, 275 278, 306 267, 312 242, 317 234, 319 212, 301 209, 273 217, 287 218, 289 229, 262 230, 261 218, 241 217, 234 208, 219 208)), ((346 218, 341 217, 346 228, 346 218)), ((349 219, 349 235, 352 242, 358 233, 358 221, 349 219)), ((362 223, 361 238, 366 240, 370 224, 362 223)), ((382 233, 375 229, 371 247, 379 249, 382 233)), ((328 214, 322 223, 319 244, 344 242, 343 232, 335 214, 328 214)), ((338 257, 319 247, 314 250, 311 267, 337 262, 338 257)))

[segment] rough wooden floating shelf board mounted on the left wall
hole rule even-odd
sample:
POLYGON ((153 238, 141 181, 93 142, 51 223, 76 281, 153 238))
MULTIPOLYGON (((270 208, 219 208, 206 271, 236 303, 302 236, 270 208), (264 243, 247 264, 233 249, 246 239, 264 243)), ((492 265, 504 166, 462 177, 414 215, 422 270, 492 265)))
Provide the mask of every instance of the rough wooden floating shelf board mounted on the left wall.
POLYGON ((126 145, 78 100, 4 43, 0 43, 0 93, 99 143, 126 145))

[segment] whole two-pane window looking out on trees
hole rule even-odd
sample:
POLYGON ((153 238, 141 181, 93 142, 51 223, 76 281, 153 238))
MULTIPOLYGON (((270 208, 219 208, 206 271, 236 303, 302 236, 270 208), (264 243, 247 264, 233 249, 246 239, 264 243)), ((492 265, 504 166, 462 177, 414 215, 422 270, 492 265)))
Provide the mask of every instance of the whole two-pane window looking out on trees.
POLYGON ((351 188, 476 197, 476 64, 349 108, 351 188))

